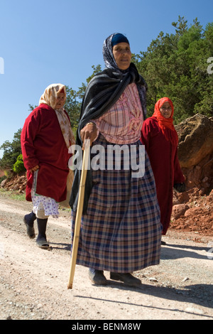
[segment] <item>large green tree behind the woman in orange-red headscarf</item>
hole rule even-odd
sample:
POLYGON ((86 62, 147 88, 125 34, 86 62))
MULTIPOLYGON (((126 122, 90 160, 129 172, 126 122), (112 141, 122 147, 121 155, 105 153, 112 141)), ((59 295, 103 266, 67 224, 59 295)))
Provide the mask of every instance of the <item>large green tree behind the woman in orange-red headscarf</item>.
POLYGON ((133 57, 148 83, 148 117, 163 96, 173 100, 176 124, 197 112, 212 116, 213 75, 207 72, 207 59, 213 56, 212 23, 204 30, 195 18, 188 27, 179 16, 172 25, 175 34, 160 32, 146 52, 133 57))

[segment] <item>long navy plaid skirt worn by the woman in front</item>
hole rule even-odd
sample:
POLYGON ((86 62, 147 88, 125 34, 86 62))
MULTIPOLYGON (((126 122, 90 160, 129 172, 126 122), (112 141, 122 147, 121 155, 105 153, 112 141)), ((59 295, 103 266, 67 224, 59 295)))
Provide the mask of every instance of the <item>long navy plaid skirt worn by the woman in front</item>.
MULTIPOLYGON (((105 152, 110 144, 99 136, 105 152)), ((139 161, 141 141, 134 145, 139 161)), ((127 149, 128 151, 128 149, 127 149)), ((93 156, 91 154, 91 160, 93 156)), ((89 268, 120 273, 131 273, 147 266, 159 264, 162 226, 156 197, 155 181, 147 153, 143 156, 143 176, 136 177, 126 168, 129 156, 121 154, 121 168, 112 166, 105 154, 105 168, 92 169, 92 193, 87 214, 82 215, 77 264, 89 268), (97 169, 97 170, 96 170, 97 169)), ((76 212, 72 211, 72 242, 76 212)), ((72 247, 71 247, 72 251, 72 247)))

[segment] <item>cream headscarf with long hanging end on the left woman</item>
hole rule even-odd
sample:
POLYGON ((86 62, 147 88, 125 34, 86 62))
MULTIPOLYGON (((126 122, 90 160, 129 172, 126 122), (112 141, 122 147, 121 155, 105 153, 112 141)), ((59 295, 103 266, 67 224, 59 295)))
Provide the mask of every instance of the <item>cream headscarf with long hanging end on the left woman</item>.
POLYGON ((51 108, 55 110, 55 113, 58 117, 58 122, 60 124, 60 129, 62 131, 62 135, 64 136, 65 143, 67 145, 67 148, 69 149, 71 145, 75 144, 75 137, 72 133, 70 120, 68 119, 67 114, 65 114, 63 107, 60 109, 55 109, 57 97, 60 94, 60 92, 63 92, 65 94, 65 99, 64 99, 64 104, 65 104, 67 93, 65 85, 62 84, 49 85, 45 89, 43 95, 40 97, 39 104, 41 103, 48 104, 51 108))

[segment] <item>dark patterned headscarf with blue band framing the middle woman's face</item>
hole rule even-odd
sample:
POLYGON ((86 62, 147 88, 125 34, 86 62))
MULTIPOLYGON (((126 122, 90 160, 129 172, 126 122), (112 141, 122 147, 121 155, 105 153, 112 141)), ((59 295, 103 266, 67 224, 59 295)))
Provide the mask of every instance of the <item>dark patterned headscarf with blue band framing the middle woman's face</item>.
POLYGON ((114 70, 116 72, 124 73, 126 72, 126 70, 124 71, 118 68, 112 52, 113 46, 122 42, 129 44, 128 39, 124 35, 122 35, 122 33, 113 33, 104 41, 102 52, 106 68, 110 68, 111 70, 114 70))

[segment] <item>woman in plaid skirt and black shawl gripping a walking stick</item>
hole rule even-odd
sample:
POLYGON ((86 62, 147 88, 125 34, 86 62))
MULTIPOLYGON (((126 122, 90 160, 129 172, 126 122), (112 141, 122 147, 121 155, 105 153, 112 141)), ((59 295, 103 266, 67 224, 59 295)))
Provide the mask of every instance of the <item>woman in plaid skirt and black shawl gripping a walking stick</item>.
MULTIPOLYGON (((109 36, 104 41, 103 55, 106 69, 89 82, 76 144, 84 147, 89 139, 92 149, 99 145, 105 152, 115 145, 131 152, 134 146, 134 158, 139 161, 146 82, 131 63, 129 41, 124 35, 109 36)), ((77 264, 89 267, 93 284, 107 284, 104 271, 110 271, 110 279, 138 286, 141 281, 131 273, 160 261, 160 210, 153 172, 146 154, 141 176, 124 168, 129 161, 125 151, 121 168, 107 170, 107 154, 105 159, 100 162, 105 168, 87 171, 77 264)), ((111 163, 115 160, 113 156, 111 163)), ((80 173, 76 169, 70 198, 72 239, 80 173)))

